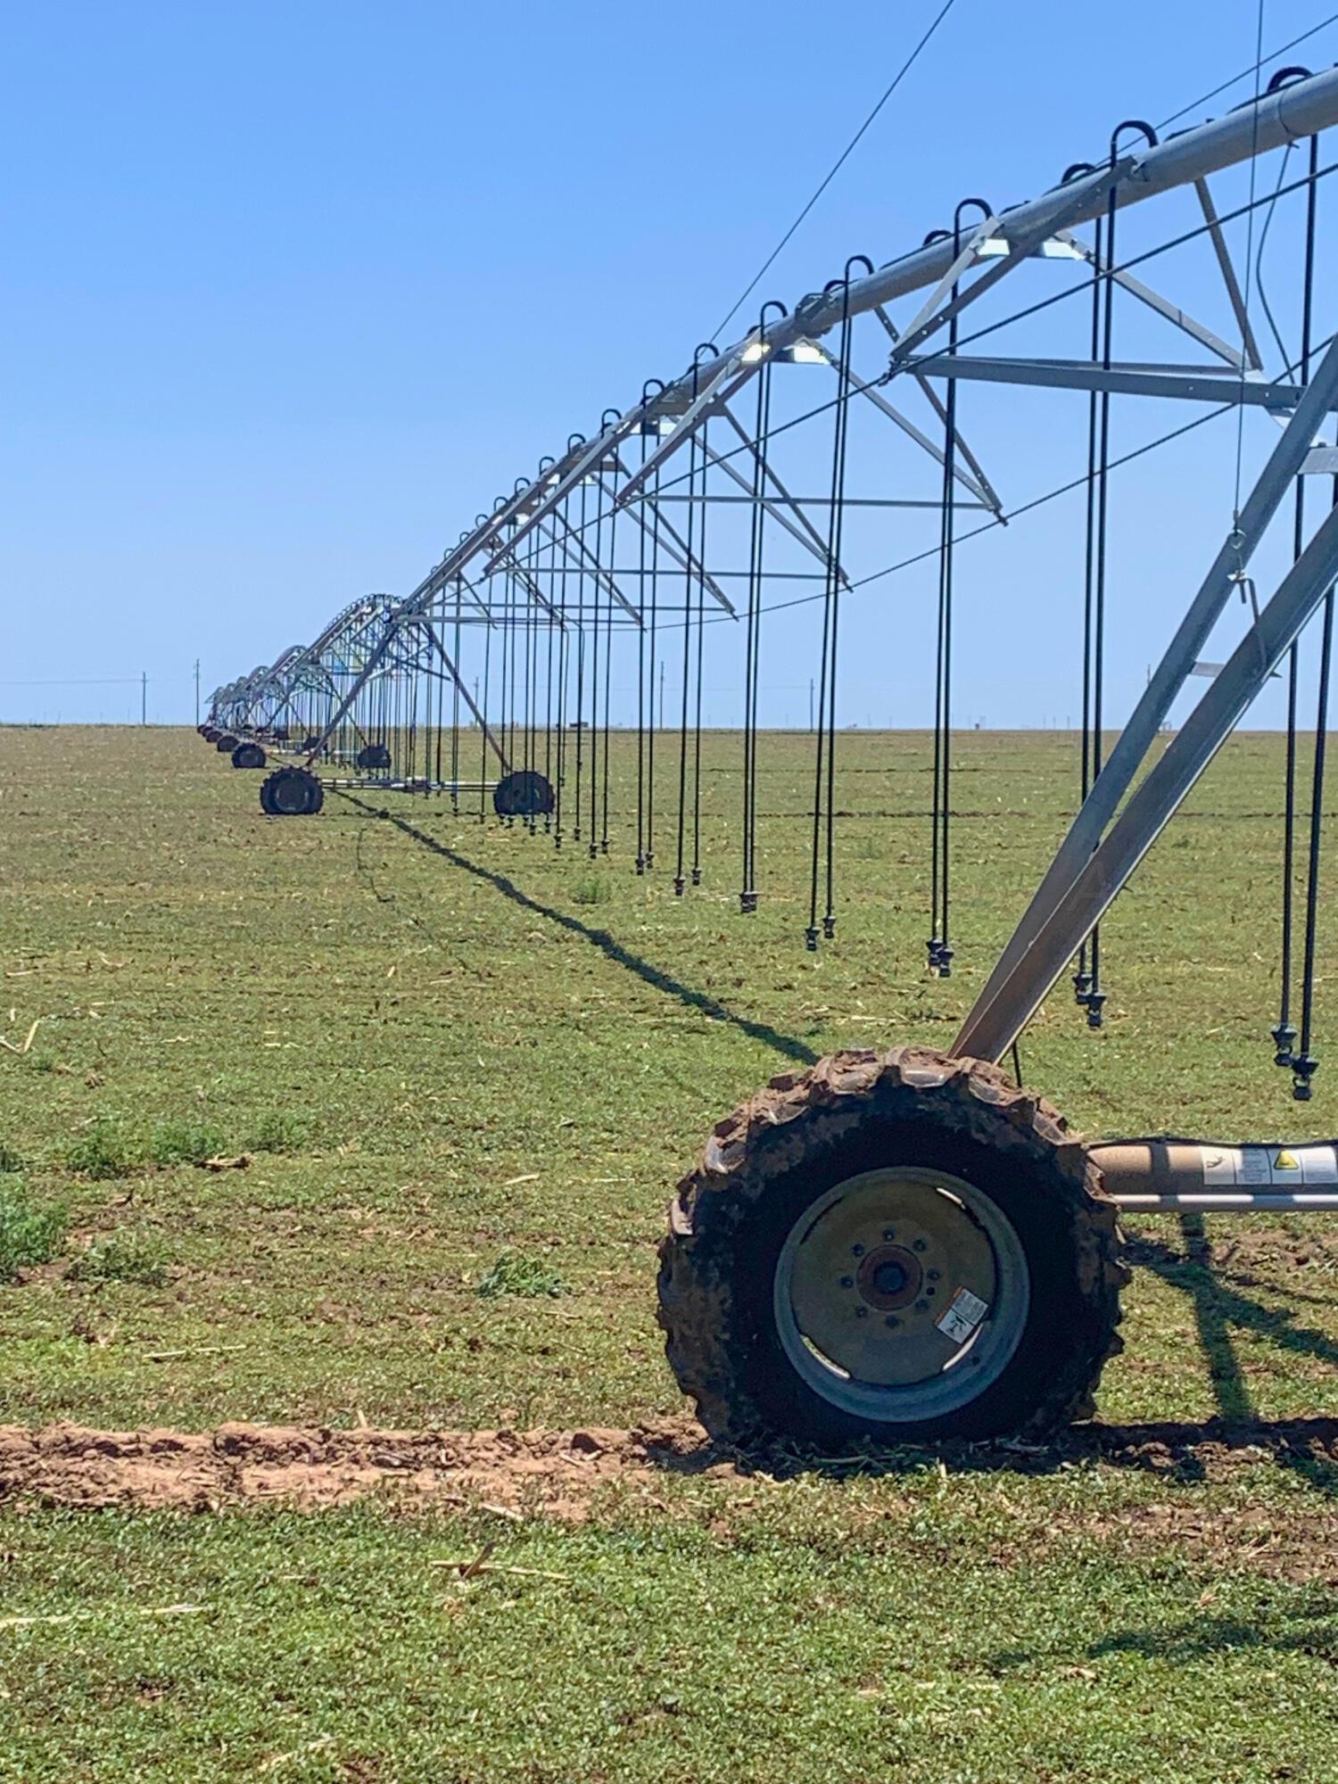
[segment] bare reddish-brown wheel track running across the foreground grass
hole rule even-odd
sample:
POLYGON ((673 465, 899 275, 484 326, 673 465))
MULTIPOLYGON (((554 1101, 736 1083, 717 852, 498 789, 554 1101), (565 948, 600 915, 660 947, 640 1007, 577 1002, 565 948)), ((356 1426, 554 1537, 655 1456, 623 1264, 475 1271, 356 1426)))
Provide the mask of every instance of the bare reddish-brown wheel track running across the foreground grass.
MULTIPOLYGON (((1277 1424, 1103 1425, 1060 1443, 1004 1443, 944 1450, 954 1470, 1047 1474, 1088 1459, 1136 1468, 1177 1484, 1220 1479, 1272 1461, 1299 1468, 1327 1495, 1338 1491, 1338 1420, 1277 1424)), ((897 1472, 915 1458, 849 1456, 831 1472, 897 1472)), ((765 1472, 801 1472, 799 1458, 765 1472)), ((592 1495, 621 1483, 655 1497, 665 1475, 728 1483, 756 1477, 746 1458, 712 1447, 690 1418, 632 1429, 578 1431, 332 1431, 305 1425, 225 1424, 216 1431, 93 1431, 52 1424, 0 1425, 0 1502, 125 1506, 136 1509, 350 1504, 368 1493, 407 1502, 491 1504, 580 1518, 592 1495)))

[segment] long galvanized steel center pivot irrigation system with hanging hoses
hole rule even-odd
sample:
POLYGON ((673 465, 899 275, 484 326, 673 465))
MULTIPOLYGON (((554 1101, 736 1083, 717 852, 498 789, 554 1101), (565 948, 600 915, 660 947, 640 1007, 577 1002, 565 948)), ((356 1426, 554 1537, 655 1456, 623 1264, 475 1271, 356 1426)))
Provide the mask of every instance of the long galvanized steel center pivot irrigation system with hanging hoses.
MULTIPOLYGON (((1338 337, 1315 300, 1334 291, 1334 268, 1318 264, 1318 209, 1336 166, 1322 132, 1338 123, 1338 71, 1286 68, 1260 86, 1167 141, 1124 121, 1040 198, 1003 211, 967 198, 951 228, 903 259, 855 257, 792 310, 765 303, 733 346, 703 343, 687 373, 649 380, 592 437, 571 435, 412 594, 348 607, 314 644, 212 698, 203 731, 237 765, 262 765, 266 751, 293 758, 264 783, 269 814, 316 812, 326 787, 439 794, 457 812, 476 797, 480 821, 491 801, 507 822, 598 855, 610 849, 614 690, 635 681, 635 699, 619 692, 617 705, 617 730, 635 724, 637 740, 635 871, 655 871, 658 846, 660 871, 673 855, 674 890, 690 896, 705 871, 705 676, 719 681, 735 662, 731 849, 747 917, 765 896, 760 665, 778 646, 792 662, 806 637, 817 712, 805 942, 815 949, 837 926, 837 648, 851 649, 849 599, 919 566, 937 582, 926 953, 929 972, 947 976, 962 542, 1004 526, 1012 539, 1010 523, 1074 492, 1072 557, 1058 562, 1051 537, 1035 574, 1056 601, 1081 589, 1081 806, 951 1051, 844 1053, 772 1079, 719 1124, 673 1202, 667 1354, 721 1438, 831 1450, 1042 1433, 1092 1409, 1119 1345, 1120 1208, 1338 1210, 1334 1145, 1083 1145, 997 1063, 1070 969, 1101 1026, 1099 919, 1256 694, 1284 676, 1272 1038, 1295 1095, 1309 1097, 1338 574, 1338 337), (1158 268, 1181 298, 1163 294, 1158 268), (990 400, 1008 405, 1003 421, 990 400), (1006 444, 1028 401, 1053 405, 1054 437, 1070 430, 1081 469, 1008 508, 985 441, 997 426, 1006 444), (1174 423, 1117 453, 1111 416, 1127 426, 1149 403, 1174 423), (1211 562, 1106 749, 1108 589, 1117 546, 1126 553, 1138 532, 1136 512, 1115 514, 1113 475, 1174 442, 1188 528, 1217 473, 1186 475, 1183 460, 1213 421, 1231 432, 1220 457, 1235 458, 1235 476, 1218 478, 1211 562), (888 539, 901 553, 890 566, 888 539), (1299 639, 1317 612, 1311 753, 1297 749, 1311 685, 1299 639), (1218 621, 1238 639, 1208 664, 1218 621), (1192 676, 1208 685, 1167 740, 1192 676)), ((1044 457, 1035 426, 1026 439, 1010 475, 1044 457)), ((614 840, 624 833, 630 821, 614 840)))

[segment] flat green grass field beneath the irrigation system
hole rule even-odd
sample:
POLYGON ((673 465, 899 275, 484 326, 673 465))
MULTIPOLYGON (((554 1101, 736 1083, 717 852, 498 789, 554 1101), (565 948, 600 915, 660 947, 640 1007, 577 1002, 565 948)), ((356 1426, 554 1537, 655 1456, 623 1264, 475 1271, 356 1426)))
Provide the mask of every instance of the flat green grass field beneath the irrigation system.
MULTIPOLYGON (((922 967, 926 737, 842 737, 815 956, 808 740, 764 740, 755 919, 739 740, 706 739, 681 901, 667 799, 632 872, 617 751, 591 862, 394 796, 264 821, 187 731, 0 733, 5 1418, 681 1413, 653 1304, 674 1177, 787 1063, 951 1038, 1076 746, 958 739, 949 981, 922 967)), ((1281 740, 1238 737, 1103 929, 1106 1031, 1067 988, 1028 1031, 1026 1081, 1083 1131, 1338 1131, 1333 899, 1315 1101, 1270 1063, 1279 806, 1281 740)), ((580 1522, 14 1495, 0 1779, 1333 1779, 1338 1233, 1135 1226, 1104 1449, 789 1479, 699 1452, 610 1475, 580 1522), (434 1566, 487 1543, 528 1572, 434 1566)))

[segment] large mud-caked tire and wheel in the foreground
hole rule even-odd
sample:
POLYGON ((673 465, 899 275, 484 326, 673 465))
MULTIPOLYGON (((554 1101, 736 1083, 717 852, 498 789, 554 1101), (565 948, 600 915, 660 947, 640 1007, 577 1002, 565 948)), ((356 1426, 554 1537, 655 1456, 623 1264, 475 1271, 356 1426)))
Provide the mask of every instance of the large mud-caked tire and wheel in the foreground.
POLYGON ((924 1047, 772 1078, 678 1186, 660 1326, 744 1449, 1044 1436, 1120 1349, 1115 1204, 1063 1117, 924 1047))

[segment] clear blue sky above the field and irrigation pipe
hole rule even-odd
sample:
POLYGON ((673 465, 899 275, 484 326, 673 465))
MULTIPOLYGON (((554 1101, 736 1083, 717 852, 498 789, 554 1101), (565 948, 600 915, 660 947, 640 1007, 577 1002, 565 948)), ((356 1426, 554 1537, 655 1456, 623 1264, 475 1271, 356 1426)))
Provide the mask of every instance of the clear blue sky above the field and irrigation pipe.
MULTIPOLYGON (((0 717, 137 715, 137 689, 12 683, 146 669, 150 714, 189 719, 196 657, 209 690, 364 591, 410 587, 541 453, 681 369, 933 11, 11 9, 0 717)), ((1265 43, 1322 12, 1268 0, 1265 43)), ((965 193, 1053 184, 1119 118, 1161 120, 1243 68, 1254 20, 1254 0, 956 0, 765 293, 792 300, 851 252, 888 259, 965 193)), ((1297 52, 1336 55, 1338 27, 1297 52)), ((997 482, 1024 500, 1028 441, 1004 448, 997 482)), ((1145 500, 1120 526, 1174 544, 1183 491, 1145 500)), ((1151 551, 1127 578, 1117 708, 1224 503, 1218 478, 1183 562, 1151 551)), ((1038 523, 1028 551, 1069 553, 1072 521, 1038 523)), ((1017 603, 1013 630, 1044 623, 1060 596, 1037 558, 1008 541, 999 562, 981 617, 1017 603)), ((922 723, 901 596, 867 599, 842 712, 922 723)), ((963 717, 1076 712, 1072 657, 1058 680, 1031 658, 967 626, 963 717)), ((772 717, 808 667, 796 633, 769 665, 772 717)))

